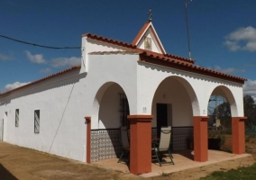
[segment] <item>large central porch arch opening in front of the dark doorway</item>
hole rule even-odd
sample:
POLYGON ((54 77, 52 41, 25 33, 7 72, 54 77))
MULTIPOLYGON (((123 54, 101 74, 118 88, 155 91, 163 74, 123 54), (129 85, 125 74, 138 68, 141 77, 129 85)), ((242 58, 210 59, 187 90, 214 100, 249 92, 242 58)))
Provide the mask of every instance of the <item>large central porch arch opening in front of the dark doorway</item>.
POLYGON ((157 136, 161 126, 172 126, 173 150, 187 149, 186 139, 193 136, 193 117, 199 113, 197 94, 187 79, 181 76, 168 76, 156 87, 151 103, 151 114, 154 117, 152 130, 156 131, 157 136), (168 122, 161 124, 158 111, 159 107, 165 104, 168 105, 168 122))

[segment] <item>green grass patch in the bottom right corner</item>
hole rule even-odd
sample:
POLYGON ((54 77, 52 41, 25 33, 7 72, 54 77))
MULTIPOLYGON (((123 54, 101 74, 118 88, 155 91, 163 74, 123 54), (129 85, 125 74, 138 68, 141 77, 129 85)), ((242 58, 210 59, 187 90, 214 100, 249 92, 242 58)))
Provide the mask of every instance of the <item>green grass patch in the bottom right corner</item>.
POLYGON ((240 167, 236 170, 231 169, 227 172, 224 171, 215 171, 211 175, 207 175, 204 178, 201 178, 201 180, 219 180, 219 179, 225 179, 225 180, 236 180, 236 179, 242 179, 242 180, 251 180, 256 178, 256 164, 252 166, 247 167, 240 167))

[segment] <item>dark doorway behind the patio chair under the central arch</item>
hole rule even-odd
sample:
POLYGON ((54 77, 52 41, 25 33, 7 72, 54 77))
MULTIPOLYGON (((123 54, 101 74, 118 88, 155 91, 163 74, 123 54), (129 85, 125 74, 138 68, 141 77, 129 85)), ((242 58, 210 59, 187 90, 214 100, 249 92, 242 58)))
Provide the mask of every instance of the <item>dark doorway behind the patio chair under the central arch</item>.
POLYGON ((168 104, 157 103, 157 129, 160 138, 160 127, 168 126, 168 104))

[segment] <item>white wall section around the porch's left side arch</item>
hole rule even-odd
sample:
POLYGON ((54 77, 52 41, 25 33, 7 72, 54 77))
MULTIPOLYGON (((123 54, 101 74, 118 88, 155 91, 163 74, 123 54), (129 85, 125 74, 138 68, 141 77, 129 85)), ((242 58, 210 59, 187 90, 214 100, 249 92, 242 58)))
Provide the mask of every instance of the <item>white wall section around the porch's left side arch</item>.
POLYGON ((97 112, 101 101, 104 101, 102 98, 105 95, 105 91, 109 85, 114 83, 120 85, 126 94, 130 112, 136 112, 136 67, 138 58, 137 54, 89 55, 87 85, 90 93, 87 94, 86 109, 87 114, 92 116, 92 129, 99 128, 97 112), (109 83, 107 87, 104 86, 106 83, 109 83), (102 93, 100 91, 101 88, 104 88, 102 93))

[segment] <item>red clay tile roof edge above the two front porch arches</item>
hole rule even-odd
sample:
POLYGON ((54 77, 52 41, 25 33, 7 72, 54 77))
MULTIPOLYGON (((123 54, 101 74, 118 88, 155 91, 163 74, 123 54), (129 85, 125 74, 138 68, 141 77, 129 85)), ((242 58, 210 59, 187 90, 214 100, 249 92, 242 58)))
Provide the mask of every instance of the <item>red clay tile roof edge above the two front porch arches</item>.
POLYGON ((150 62, 153 64, 158 64, 165 67, 174 67, 181 70, 186 70, 188 72, 195 72, 201 75, 214 76, 217 78, 221 78, 221 79, 225 79, 225 80, 229 80, 229 81, 233 81, 241 84, 243 84, 244 81, 247 80, 239 76, 232 76, 232 75, 218 72, 209 68, 195 66, 189 62, 180 61, 175 58, 157 56, 147 51, 142 52, 140 60, 145 62, 150 62))

